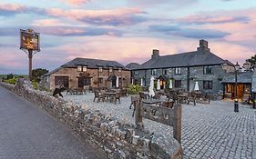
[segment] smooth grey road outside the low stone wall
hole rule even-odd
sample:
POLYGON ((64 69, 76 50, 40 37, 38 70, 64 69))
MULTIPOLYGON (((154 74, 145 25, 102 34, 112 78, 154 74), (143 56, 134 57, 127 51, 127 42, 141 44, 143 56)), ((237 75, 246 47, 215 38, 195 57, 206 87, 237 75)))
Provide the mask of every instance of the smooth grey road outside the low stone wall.
POLYGON ((0 86, 0 159, 106 158, 72 133, 0 86))

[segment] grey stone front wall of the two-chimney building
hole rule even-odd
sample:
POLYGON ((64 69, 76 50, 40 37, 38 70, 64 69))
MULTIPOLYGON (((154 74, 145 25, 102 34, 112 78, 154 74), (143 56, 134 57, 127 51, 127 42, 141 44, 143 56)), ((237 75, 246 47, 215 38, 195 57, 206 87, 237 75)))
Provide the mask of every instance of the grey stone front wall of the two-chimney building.
MULTIPOLYGON (((159 75, 166 75, 168 78, 175 80, 181 80, 181 88, 187 90, 187 80, 188 80, 188 67, 180 67, 181 74, 175 75, 175 68, 159 68, 156 69, 156 75, 153 75, 155 79, 158 79, 159 75), (166 70, 166 71, 165 71, 166 70), (166 73, 166 74, 165 74, 166 73)), ((134 79, 137 79, 140 83, 140 79, 146 79, 146 86, 150 83, 151 69, 148 70, 133 70, 132 75, 134 79), (134 72, 138 71, 138 75, 135 75, 134 72)), ((203 93, 211 94, 214 99, 217 99, 219 94, 223 92, 223 84, 220 84, 220 81, 227 73, 223 70, 221 65, 212 65, 212 74, 204 75, 203 66, 190 66, 189 67, 189 91, 194 89, 195 83, 199 82, 200 91, 203 93), (212 81, 212 89, 204 89, 203 81, 212 81)))

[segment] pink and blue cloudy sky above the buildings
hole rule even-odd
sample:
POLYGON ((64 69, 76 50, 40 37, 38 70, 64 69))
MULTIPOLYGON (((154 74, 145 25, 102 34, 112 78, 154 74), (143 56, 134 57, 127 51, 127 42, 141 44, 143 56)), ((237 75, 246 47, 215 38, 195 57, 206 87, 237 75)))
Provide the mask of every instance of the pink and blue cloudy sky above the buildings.
POLYGON ((76 57, 146 62, 197 50, 242 65, 256 54, 254 0, 0 0, 0 74, 28 74, 20 29, 40 33, 33 68, 49 71, 76 57))

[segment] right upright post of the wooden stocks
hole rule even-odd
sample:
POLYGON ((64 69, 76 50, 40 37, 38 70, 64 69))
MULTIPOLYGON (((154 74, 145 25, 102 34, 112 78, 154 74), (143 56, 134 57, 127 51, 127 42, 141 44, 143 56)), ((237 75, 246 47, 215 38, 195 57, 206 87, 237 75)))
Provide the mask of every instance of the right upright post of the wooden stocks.
POLYGON ((173 137, 181 144, 181 104, 174 105, 173 137))

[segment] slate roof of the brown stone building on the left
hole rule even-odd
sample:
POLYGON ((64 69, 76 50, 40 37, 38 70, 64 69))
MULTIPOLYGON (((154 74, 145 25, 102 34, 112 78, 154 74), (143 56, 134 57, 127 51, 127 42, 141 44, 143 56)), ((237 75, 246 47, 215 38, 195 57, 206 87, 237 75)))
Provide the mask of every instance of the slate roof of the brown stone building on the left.
POLYGON ((75 58, 61 67, 77 67, 77 65, 87 65, 87 68, 98 68, 102 66, 103 68, 113 67, 114 69, 122 68, 126 69, 124 65, 119 64, 116 61, 92 59, 92 58, 75 58))

